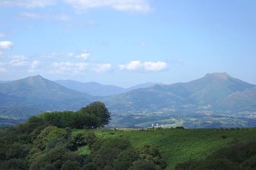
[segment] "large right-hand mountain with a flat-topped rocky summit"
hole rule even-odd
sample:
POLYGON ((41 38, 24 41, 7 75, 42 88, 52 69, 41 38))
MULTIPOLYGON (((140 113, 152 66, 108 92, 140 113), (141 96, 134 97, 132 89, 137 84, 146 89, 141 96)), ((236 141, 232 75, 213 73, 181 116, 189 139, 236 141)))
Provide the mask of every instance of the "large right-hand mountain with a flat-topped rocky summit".
POLYGON ((124 108, 124 112, 185 109, 184 105, 196 109, 208 104, 215 109, 240 111, 250 108, 249 110, 256 111, 255 89, 255 85, 240 81, 227 73, 211 73, 188 83, 156 84, 135 89, 106 98, 105 102, 113 109, 124 108), (241 101, 240 97, 247 99, 247 103, 241 101))

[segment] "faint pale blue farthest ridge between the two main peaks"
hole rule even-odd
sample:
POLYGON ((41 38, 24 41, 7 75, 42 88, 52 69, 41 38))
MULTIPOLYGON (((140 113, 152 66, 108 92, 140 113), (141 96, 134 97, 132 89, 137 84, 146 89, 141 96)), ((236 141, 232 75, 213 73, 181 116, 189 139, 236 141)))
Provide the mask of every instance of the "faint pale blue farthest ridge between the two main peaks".
POLYGON ((97 82, 83 83, 83 82, 72 81, 72 80, 58 80, 55 82, 60 84, 61 86, 73 89, 78 92, 90 94, 92 96, 112 96, 115 94, 125 93, 133 89, 147 88, 150 86, 154 86, 155 84, 159 84, 159 83, 147 82, 143 84, 138 84, 136 86, 132 86, 130 88, 122 88, 114 85, 104 85, 97 82))

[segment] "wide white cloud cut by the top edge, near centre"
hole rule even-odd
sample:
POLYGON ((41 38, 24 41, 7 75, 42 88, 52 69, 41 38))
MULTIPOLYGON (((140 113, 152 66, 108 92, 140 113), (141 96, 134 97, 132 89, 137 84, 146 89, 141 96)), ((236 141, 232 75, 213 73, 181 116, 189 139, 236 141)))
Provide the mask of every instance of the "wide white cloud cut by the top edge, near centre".
POLYGON ((149 12, 147 0, 65 0, 76 9, 109 7, 118 11, 149 12))

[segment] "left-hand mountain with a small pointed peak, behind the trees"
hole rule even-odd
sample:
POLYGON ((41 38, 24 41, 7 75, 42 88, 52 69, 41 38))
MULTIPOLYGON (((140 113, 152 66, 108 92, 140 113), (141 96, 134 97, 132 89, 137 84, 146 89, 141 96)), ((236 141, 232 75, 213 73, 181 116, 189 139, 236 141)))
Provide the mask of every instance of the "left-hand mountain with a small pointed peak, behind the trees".
POLYGON ((41 76, 0 84, 0 96, 0 115, 10 118, 28 118, 42 111, 78 109, 94 99, 41 76))

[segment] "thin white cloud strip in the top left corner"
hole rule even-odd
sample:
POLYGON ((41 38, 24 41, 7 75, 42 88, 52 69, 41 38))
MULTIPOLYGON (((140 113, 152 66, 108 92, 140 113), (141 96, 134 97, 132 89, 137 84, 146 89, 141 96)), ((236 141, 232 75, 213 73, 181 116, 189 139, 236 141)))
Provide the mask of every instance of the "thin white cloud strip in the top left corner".
POLYGON ((56 3, 56 0, 0 0, 0 6, 18 6, 25 8, 45 7, 56 3))

